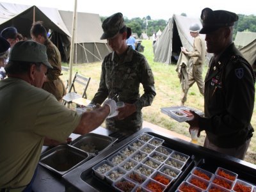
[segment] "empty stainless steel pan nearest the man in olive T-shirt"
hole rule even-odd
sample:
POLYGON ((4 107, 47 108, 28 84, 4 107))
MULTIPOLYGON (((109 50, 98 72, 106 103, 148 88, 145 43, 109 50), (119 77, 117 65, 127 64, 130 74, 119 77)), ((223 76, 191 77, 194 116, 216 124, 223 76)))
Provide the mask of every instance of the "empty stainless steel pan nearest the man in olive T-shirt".
POLYGON ((40 157, 39 164, 52 172, 64 175, 91 157, 87 152, 70 145, 58 145, 44 152, 40 157))

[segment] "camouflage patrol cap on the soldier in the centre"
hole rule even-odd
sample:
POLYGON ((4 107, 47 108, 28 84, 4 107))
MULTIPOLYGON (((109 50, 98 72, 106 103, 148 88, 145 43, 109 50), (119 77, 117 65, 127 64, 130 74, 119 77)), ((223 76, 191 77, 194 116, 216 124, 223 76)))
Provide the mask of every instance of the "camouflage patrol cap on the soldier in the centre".
POLYGON ((124 28, 124 26, 125 24, 122 13, 115 13, 111 15, 102 23, 104 33, 100 39, 113 38, 117 33, 119 33, 120 29, 124 28))

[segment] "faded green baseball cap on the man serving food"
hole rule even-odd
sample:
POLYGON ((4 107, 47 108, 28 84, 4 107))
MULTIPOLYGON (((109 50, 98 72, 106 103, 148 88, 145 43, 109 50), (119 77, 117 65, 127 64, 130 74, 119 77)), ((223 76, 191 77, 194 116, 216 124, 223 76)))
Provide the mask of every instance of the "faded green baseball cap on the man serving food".
POLYGON ((31 40, 17 42, 10 52, 9 60, 43 63, 47 68, 52 68, 45 45, 31 40))

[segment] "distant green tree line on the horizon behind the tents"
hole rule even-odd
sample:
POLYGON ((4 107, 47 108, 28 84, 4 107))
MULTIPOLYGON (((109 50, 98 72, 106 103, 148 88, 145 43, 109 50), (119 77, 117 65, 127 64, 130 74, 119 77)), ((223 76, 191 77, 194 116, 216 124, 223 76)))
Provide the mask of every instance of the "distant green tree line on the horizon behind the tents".
MULTIPOLYGON (((186 17, 186 13, 181 13, 180 15, 186 17)), ((239 16, 239 20, 235 23, 234 26, 234 38, 236 37, 237 31, 251 31, 256 32, 256 16, 255 15, 242 15, 237 14, 239 16)), ((103 22, 107 17, 100 17, 103 22)), ((170 18, 171 19, 171 18, 170 18)), ((169 19, 169 20, 170 20, 169 19)), ((169 20, 159 19, 152 20, 150 15, 147 17, 135 17, 132 19, 128 19, 124 17, 125 24, 132 29, 132 33, 137 33, 140 37, 141 33, 147 33, 148 36, 152 36, 153 31, 161 31, 164 30, 169 20)))

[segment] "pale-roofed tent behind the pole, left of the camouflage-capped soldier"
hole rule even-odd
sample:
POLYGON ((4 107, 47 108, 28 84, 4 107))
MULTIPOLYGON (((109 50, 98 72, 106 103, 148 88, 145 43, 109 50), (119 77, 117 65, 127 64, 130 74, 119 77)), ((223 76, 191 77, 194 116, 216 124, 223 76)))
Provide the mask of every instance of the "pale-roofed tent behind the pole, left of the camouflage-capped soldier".
MULTIPOLYGON (((61 11, 60 15, 72 33, 73 12, 61 11)), ((77 12, 76 33, 74 38, 74 63, 102 61, 110 52, 106 40, 100 40, 103 33, 100 16, 93 13, 77 12)))

